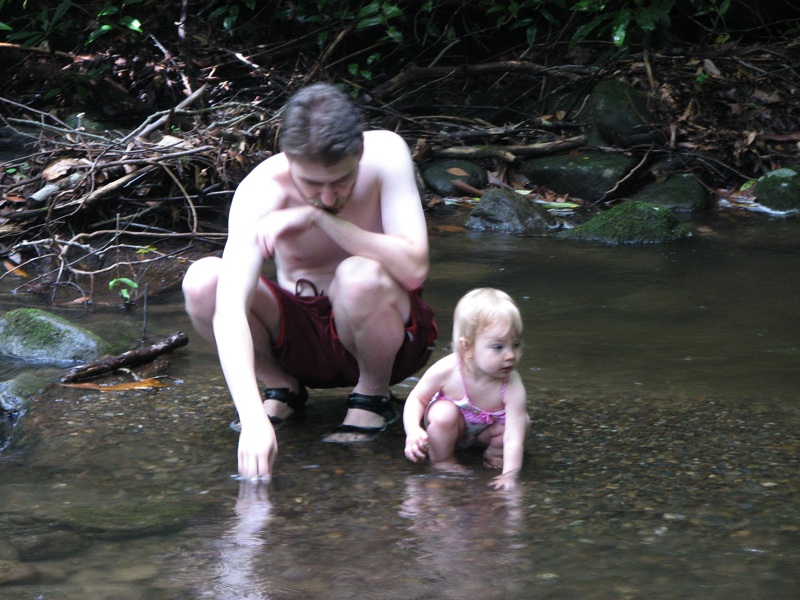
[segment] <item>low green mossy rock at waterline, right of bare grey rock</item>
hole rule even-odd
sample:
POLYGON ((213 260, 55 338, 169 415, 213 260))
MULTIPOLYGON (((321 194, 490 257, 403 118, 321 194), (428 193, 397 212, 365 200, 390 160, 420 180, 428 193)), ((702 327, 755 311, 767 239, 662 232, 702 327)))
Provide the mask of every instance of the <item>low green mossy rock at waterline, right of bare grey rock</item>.
POLYGON ((688 237, 691 233, 670 210, 628 200, 582 225, 559 231, 556 235, 564 239, 619 246, 664 244, 688 237))

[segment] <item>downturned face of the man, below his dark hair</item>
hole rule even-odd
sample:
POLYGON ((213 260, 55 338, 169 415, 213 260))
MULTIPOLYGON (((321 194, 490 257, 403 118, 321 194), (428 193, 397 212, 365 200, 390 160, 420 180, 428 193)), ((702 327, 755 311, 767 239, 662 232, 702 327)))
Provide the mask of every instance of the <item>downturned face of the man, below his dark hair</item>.
POLYGON ((292 182, 306 202, 337 214, 344 208, 358 177, 361 152, 330 166, 308 160, 289 160, 292 182))

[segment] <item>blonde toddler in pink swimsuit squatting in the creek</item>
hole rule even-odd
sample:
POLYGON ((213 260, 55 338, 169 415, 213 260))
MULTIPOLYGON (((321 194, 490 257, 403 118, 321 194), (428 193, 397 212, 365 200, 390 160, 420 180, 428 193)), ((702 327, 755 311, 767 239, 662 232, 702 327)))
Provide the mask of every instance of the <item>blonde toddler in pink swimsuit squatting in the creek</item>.
POLYGON ((521 336, 522 317, 505 292, 479 288, 459 300, 452 354, 432 365, 406 400, 409 460, 427 454, 435 468, 463 472, 456 448, 485 447, 486 465, 502 469, 490 486, 516 487, 530 424, 516 371, 521 336))

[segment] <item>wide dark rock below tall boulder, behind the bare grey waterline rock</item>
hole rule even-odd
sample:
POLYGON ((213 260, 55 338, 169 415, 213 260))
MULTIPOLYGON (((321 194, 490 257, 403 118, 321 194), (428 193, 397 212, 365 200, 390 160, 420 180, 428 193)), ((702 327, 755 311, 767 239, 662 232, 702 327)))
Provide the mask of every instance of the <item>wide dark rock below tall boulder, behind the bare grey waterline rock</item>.
POLYGON ((519 170, 536 185, 593 202, 614 189, 637 162, 623 154, 587 151, 529 160, 519 170))

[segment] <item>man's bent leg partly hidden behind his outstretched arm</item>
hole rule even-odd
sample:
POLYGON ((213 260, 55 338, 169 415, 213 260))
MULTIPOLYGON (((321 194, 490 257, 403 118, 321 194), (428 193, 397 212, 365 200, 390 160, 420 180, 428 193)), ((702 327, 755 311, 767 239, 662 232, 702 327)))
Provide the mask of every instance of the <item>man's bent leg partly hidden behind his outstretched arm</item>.
MULTIPOLYGON (((195 262, 183 279, 186 312, 197 332, 215 344, 213 318, 216 310, 217 280, 222 261, 207 257, 195 262)), ((280 310, 269 288, 259 282, 253 306, 248 317, 255 347, 256 377, 268 387, 285 387, 298 391, 295 378, 288 375, 275 361, 272 340, 280 333, 280 310)), ((285 418, 292 410, 283 402, 268 400, 264 404, 267 414, 285 418)))

